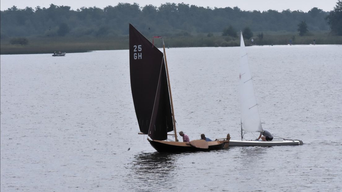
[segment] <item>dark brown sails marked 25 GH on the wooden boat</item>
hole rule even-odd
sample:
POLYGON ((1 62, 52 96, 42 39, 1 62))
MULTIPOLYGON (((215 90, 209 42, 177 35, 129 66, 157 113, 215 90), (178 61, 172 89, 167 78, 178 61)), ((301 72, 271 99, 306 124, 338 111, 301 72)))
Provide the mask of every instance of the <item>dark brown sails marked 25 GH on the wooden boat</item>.
POLYGON ((173 131, 170 95, 163 53, 129 25, 131 90, 142 133, 166 140, 173 131))

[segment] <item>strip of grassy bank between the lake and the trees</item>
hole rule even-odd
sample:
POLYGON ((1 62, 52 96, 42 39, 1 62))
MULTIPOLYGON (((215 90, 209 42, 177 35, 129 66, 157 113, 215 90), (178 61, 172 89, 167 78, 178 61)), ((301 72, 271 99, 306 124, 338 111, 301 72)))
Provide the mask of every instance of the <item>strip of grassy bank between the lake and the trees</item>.
MULTIPOLYGON (((258 45, 285 45, 292 40, 293 44, 309 44, 316 40, 316 44, 342 44, 342 36, 332 36, 329 32, 316 32, 309 36, 299 36, 298 33, 263 32, 263 38, 258 37, 260 32, 254 32, 254 43, 258 45)), ((239 46, 239 38, 223 37, 216 34, 197 34, 188 36, 165 36, 164 41, 167 47, 226 47, 239 46)), ((10 39, 1 39, 0 54, 37 54, 53 53, 62 51, 67 53, 87 52, 95 50, 123 50, 129 49, 128 36, 115 38, 94 38, 94 37, 54 37, 37 38, 28 37, 27 45, 12 45, 10 39)), ((152 38, 149 38, 152 41, 152 38)), ((249 45, 250 40, 245 40, 249 45)), ((156 40, 156 45, 160 42, 156 40)))

